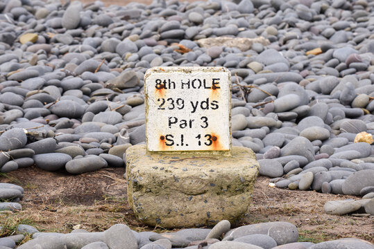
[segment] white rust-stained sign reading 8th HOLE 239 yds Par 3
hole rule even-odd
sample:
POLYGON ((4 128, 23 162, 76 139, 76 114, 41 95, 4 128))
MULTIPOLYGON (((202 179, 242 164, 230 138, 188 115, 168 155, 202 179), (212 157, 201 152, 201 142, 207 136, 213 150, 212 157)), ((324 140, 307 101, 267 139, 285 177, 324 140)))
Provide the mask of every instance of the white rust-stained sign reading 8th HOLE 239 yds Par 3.
POLYGON ((230 155, 230 84, 230 71, 223 67, 148 69, 147 150, 230 155))

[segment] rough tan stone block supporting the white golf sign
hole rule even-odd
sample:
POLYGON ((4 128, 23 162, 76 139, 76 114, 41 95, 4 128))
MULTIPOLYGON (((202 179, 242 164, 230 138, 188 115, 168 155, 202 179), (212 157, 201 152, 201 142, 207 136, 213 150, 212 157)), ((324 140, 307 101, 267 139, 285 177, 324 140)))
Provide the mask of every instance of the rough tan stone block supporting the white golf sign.
POLYGON ((259 167, 245 147, 228 157, 146 154, 135 145, 126 151, 128 202, 139 221, 163 228, 235 222, 248 214, 259 167))

